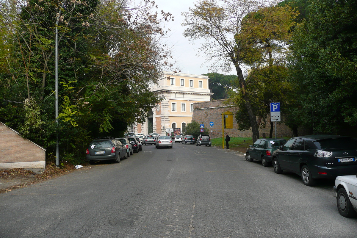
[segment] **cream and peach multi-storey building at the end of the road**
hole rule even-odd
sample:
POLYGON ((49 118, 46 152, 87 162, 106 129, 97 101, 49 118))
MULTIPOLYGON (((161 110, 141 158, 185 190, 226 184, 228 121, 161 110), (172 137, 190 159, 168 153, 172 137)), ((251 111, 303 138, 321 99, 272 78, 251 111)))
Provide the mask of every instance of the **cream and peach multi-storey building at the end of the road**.
POLYGON ((208 76, 192 74, 173 74, 162 72, 159 85, 154 85, 150 91, 165 100, 157 104, 145 124, 133 125, 128 131, 149 134, 152 132, 165 135, 167 128, 181 128, 192 120, 193 103, 211 100, 213 93, 208 88, 208 76))

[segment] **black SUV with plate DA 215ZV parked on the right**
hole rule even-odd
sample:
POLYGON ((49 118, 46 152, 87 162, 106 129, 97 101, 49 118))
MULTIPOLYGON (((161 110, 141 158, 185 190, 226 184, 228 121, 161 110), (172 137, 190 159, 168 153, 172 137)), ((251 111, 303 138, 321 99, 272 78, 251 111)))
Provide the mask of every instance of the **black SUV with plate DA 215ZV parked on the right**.
POLYGON ((357 141, 347 136, 294 137, 273 152, 275 173, 283 170, 301 175, 307 186, 318 178, 356 174, 357 141))

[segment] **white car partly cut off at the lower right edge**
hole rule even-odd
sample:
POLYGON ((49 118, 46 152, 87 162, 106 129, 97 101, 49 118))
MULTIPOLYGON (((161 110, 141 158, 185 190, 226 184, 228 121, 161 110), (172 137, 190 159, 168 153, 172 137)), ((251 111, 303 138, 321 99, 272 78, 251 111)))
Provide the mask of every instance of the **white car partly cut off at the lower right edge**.
POLYGON ((335 179, 338 212, 344 217, 357 214, 357 175, 338 176, 335 179))

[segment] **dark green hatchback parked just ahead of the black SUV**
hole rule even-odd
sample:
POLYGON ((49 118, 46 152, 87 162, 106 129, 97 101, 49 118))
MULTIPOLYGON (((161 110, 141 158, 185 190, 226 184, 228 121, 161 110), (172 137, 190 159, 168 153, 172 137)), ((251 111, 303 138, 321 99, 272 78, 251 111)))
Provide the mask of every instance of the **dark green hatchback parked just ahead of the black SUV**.
POLYGON ((263 166, 268 166, 271 162, 272 154, 279 146, 284 145, 286 140, 279 138, 263 138, 256 140, 250 148, 247 148, 246 160, 254 159, 262 161, 263 166))

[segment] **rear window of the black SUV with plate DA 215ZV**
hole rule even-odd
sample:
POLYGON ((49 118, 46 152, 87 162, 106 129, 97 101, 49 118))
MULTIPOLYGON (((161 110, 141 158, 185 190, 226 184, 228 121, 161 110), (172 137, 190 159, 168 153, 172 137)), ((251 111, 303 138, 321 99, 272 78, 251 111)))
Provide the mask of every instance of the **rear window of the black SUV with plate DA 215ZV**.
POLYGON ((350 137, 319 140, 315 141, 314 144, 318 149, 324 151, 357 150, 357 141, 350 137))

